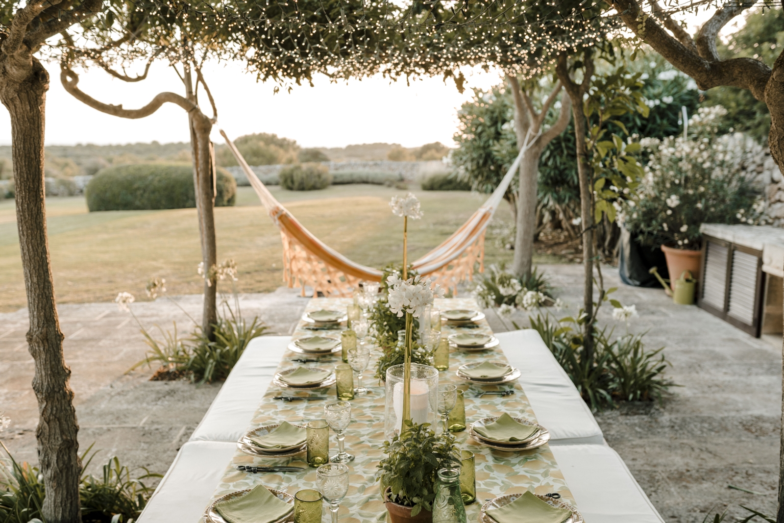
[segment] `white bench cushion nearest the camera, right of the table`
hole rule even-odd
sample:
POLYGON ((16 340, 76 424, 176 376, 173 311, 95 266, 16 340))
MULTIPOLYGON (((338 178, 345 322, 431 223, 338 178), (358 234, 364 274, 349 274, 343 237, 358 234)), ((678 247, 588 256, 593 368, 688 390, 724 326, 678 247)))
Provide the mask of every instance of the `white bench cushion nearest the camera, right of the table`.
POLYGON ((623 459, 608 445, 554 445, 577 508, 591 523, 664 523, 623 459))

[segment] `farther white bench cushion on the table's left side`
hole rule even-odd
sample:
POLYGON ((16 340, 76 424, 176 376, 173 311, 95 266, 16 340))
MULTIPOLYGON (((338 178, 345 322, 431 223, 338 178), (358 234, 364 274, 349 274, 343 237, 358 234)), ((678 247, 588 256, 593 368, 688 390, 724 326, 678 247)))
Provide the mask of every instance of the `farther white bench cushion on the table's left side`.
POLYGON ((291 336, 253 338, 188 441, 238 441, 245 434, 291 336))

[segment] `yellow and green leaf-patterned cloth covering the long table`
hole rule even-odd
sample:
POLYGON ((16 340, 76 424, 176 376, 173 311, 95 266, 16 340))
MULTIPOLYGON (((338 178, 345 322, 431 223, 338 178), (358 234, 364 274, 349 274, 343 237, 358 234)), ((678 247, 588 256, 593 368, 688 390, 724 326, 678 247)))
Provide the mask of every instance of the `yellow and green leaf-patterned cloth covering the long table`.
MULTIPOLYGON (((319 309, 346 310, 351 303, 347 298, 314 298, 307 304, 306 311, 318 311, 319 309)), ((445 298, 436 300, 434 308, 440 311, 451 309, 474 309, 481 310, 477 303, 470 298, 445 298)), ((490 325, 485 319, 478 322, 480 326, 474 329, 459 329, 451 325, 443 325, 442 329, 447 334, 454 332, 469 331, 492 334, 490 325)), ((299 321, 293 339, 303 336, 312 336, 313 331, 305 329, 306 323, 299 321)), ((337 331, 336 331, 337 332, 337 331)), ((528 398, 517 381, 514 382, 515 394, 501 398, 499 396, 484 396, 475 398, 478 390, 498 390, 498 386, 479 387, 459 380, 456 376, 456 369, 464 363, 471 361, 495 360, 506 361, 502 347, 485 350, 480 352, 463 352, 452 349, 449 354, 449 369, 440 372, 438 383, 456 383, 458 387, 466 390, 466 423, 470 424, 477 419, 486 416, 500 416, 503 412, 508 412, 511 416, 518 416, 536 420, 533 409, 528 403, 528 398)), ((506 350, 515 350, 515 347, 503 347, 506 350)), ((293 358, 301 358, 302 354, 294 353, 290 350, 278 366, 278 372, 299 365, 292 362, 293 358)), ((339 354, 337 354, 339 358, 339 354)), ((313 364, 316 365, 316 364, 313 364)), ((321 364, 323 367, 336 365, 334 363, 321 364)), ((369 523, 385 521, 387 510, 384 507, 383 499, 376 480, 376 466, 384 454, 384 387, 383 383, 378 382, 372 375, 376 369, 376 357, 371 358, 368 369, 363 373, 363 384, 370 390, 365 396, 355 396, 351 400, 351 424, 346 431, 346 450, 354 454, 356 458, 350 467, 350 487, 347 496, 340 503, 339 519, 342 523, 369 523)), ((356 386, 356 383, 354 383, 356 386)), ((506 383, 500 388, 511 388, 512 383, 506 383)), ((336 397, 335 387, 331 387, 324 394, 324 390, 313 391, 319 395, 336 397)), ((270 383, 267 394, 264 395, 256 415, 253 417, 248 430, 272 423, 280 423, 285 420, 289 423, 305 425, 310 419, 324 418, 324 404, 326 401, 279 401, 272 399, 274 396, 291 394, 289 390, 281 390, 280 387, 270 383)), ((330 430, 330 455, 337 452, 337 441, 335 435, 330 430)), ((468 430, 463 430, 455 434, 457 445, 460 449, 470 450, 476 455, 476 481, 477 481, 477 501, 466 506, 466 516, 468 521, 478 521, 479 510, 485 500, 495 496, 514 494, 532 490, 536 494, 546 494, 547 492, 558 492, 564 501, 576 506, 572 492, 569 491, 561 470, 555 461, 553 453, 550 452, 549 445, 539 447, 526 452, 503 452, 489 449, 484 445, 479 445, 477 441, 470 438, 468 430)), ((305 463, 305 453, 299 456, 285 459, 268 459, 256 456, 249 456, 239 450, 234 454, 234 458, 229 463, 223 479, 216 488, 212 499, 217 499, 229 492, 234 492, 244 488, 252 488, 258 483, 270 488, 285 490, 289 494, 294 494, 301 488, 316 488, 316 469, 308 467, 307 470, 292 473, 273 473, 273 474, 248 474, 235 469, 238 465, 288 465, 296 467, 307 467, 305 463)), ((212 503, 212 502, 211 502, 212 503)), ((327 504, 325 503, 325 520, 328 521, 327 504)))

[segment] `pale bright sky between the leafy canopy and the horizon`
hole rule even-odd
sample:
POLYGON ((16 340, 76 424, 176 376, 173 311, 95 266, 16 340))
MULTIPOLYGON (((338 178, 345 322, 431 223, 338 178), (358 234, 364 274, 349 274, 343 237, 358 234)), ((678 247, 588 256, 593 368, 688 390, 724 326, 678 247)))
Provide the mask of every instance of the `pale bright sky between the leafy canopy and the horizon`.
MULTIPOLYGON (((172 104, 138 120, 103 114, 66 93, 60 67, 48 64, 51 77, 46 101, 46 143, 135 143, 190 140, 185 111, 172 104)), ((390 82, 374 77, 332 84, 324 76, 314 87, 294 86, 291 93, 274 94, 274 83, 257 83, 240 64, 208 64, 205 78, 218 106, 218 126, 230 138, 248 133, 277 133, 303 147, 345 147, 350 143, 388 142, 405 147, 440 141, 453 146, 456 111, 469 100, 470 87, 487 89, 501 81, 499 74, 471 71, 461 95, 455 82, 441 78, 390 82)), ((468 72, 468 71, 466 71, 468 72)), ((147 79, 126 83, 100 69, 83 71, 79 87, 107 104, 131 109, 147 104, 155 94, 183 94, 183 84, 170 67, 155 64, 147 79)), ((203 92, 202 92, 203 93, 203 92)), ((200 96, 209 113, 209 102, 200 96)), ((217 131, 212 140, 223 142, 217 131)), ((11 143, 8 112, 0 106, 0 144, 11 143)))

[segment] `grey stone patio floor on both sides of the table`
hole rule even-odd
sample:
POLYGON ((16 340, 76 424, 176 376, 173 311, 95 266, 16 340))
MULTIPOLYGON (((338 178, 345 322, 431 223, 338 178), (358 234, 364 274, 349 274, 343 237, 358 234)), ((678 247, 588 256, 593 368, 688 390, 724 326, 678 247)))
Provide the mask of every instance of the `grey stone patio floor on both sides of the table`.
MULTIPOLYGON (((542 267, 557 296, 575 312, 582 302, 582 267, 542 267)), ((781 347, 758 340, 693 306, 678 306, 660 289, 621 285, 617 271, 605 268, 606 286, 619 286, 614 297, 637 305, 640 317, 632 332, 648 331, 646 346, 666 346, 674 387, 662 405, 625 404, 597 414, 605 438, 632 470, 666 521, 699 523, 713 510, 745 515, 739 504, 774 514, 778 485, 781 416, 781 347), (728 488, 735 485, 758 496, 728 488)), ((194 317, 201 296, 177 300, 194 317)), ((258 314, 270 332, 288 333, 307 300, 292 289, 242 296, 246 318, 258 314)), ((148 328, 164 329, 191 322, 166 299, 134 303, 148 328)), ((601 322, 615 325, 605 304, 601 322)), ((131 467, 164 473, 209 407, 220 384, 196 387, 185 382, 148 381, 153 370, 125 375, 143 358, 146 345, 128 313, 114 303, 59 307, 66 336, 65 357, 71 370, 82 448, 100 449, 96 469, 117 455, 131 467)), ((506 330, 485 311, 496 332, 506 330)), ((524 314, 513 318, 528 325, 524 314)), ((509 321, 506 322, 510 325, 509 321)), ((624 325, 616 325, 618 333, 624 325)), ((3 441, 20 459, 35 460, 34 428, 38 409, 30 388, 33 365, 24 333, 27 312, 0 314, 0 412, 13 419, 3 441)), ((728 518, 728 521, 731 521, 728 518)), ((631 523, 631 522, 630 522, 631 523)))

